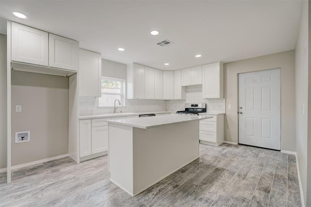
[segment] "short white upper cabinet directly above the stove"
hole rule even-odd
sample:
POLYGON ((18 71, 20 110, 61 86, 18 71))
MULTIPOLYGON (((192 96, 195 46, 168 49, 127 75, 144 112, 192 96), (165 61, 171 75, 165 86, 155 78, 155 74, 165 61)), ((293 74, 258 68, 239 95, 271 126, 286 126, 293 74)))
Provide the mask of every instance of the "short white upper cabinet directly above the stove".
POLYGON ((181 70, 181 86, 202 84, 202 66, 181 70))

